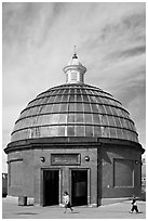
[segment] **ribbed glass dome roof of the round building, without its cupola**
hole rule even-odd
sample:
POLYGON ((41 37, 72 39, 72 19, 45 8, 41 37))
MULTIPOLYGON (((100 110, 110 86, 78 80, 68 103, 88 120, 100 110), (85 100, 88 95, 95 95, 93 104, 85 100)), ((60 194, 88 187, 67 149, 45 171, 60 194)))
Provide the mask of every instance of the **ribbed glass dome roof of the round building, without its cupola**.
POLYGON ((130 114, 111 94, 85 83, 40 93, 15 122, 11 141, 49 136, 97 136, 138 142, 130 114))

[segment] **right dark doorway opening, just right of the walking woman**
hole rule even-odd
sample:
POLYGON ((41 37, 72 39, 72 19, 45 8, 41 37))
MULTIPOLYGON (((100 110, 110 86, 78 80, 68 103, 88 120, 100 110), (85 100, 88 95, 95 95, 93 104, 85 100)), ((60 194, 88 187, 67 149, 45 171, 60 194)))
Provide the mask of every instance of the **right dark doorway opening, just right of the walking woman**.
POLYGON ((71 171, 71 204, 88 205, 88 170, 71 171))

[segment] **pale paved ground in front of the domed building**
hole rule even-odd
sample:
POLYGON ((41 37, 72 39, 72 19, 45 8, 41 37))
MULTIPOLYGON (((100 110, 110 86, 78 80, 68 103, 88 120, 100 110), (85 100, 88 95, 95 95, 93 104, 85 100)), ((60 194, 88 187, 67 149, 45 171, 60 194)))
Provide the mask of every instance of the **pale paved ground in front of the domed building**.
POLYGON ((64 208, 17 206, 16 200, 2 199, 2 219, 146 219, 146 202, 137 202, 139 213, 130 213, 130 202, 97 208, 73 207, 73 212, 64 213, 64 208))

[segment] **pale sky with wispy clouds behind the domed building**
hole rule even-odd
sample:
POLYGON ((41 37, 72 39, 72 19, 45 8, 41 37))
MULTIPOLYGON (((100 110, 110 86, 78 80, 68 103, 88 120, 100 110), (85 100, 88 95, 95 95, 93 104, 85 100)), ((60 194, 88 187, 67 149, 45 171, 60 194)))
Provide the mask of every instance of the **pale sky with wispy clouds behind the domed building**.
POLYGON ((27 104, 66 82, 75 46, 85 83, 122 103, 146 148, 145 2, 2 3, 2 148, 27 104))

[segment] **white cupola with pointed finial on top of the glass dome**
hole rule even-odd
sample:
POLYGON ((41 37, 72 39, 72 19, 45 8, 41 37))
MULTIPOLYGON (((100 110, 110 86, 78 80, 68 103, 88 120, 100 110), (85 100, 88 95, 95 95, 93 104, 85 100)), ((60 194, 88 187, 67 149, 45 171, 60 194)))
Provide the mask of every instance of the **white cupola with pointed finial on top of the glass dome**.
POLYGON ((75 46, 75 53, 72 55, 72 58, 70 60, 68 65, 64 67, 63 70, 66 74, 67 83, 84 82, 84 74, 86 72, 86 68, 78 60, 78 55, 76 53, 76 46, 75 46))

